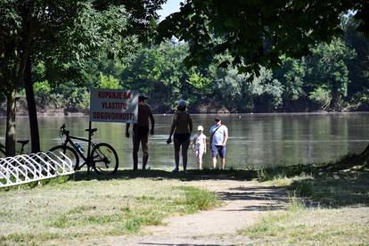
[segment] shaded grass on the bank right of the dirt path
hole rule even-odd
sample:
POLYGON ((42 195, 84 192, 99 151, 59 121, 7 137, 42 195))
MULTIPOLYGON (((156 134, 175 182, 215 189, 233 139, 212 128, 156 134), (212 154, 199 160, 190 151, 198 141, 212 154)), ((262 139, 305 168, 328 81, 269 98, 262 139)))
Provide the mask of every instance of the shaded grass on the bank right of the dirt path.
POLYGON ((355 155, 346 155, 324 165, 265 169, 258 172, 258 179, 290 179, 286 189, 312 206, 368 206, 369 166, 353 161, 355 158, 355 155))

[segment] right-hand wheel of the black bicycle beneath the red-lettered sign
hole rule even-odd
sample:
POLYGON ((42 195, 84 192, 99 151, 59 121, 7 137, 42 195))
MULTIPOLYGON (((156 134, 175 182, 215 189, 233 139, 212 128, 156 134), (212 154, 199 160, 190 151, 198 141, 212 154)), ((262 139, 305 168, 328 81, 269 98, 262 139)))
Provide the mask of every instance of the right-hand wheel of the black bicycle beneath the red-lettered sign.
POLYGON ((93 168, 99 174, 113 174, 119 166, 118 154, 108 143, 97 143, 91 152, 93 168))

